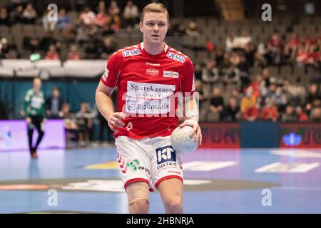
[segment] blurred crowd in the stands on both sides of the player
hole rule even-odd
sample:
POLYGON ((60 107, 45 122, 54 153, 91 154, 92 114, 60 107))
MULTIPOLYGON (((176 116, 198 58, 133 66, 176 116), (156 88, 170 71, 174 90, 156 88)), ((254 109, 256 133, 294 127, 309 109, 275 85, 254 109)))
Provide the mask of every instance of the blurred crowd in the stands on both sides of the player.
MULTIPOLYGON (((65 9, 59 9, 58 21, 48 21, 47 13, 36 12, 32 4, 3 7, 0 25, 36 24, 40 19, 46 35, 39 39, 26 30, 23 47, 31 52, 47 50, 46 59, 108 59, 116 51, 113 34, 121 28, 137 28, 140 16, 133 1, 128 1, 124 9, 120 9, 117 1, 111 1, 109 6, 99 1, 96 9, 84 6, 75 23, 65 9), (53 36, 57 29, 61 39, 53 36), (66 56, 61 55, 63 43, 68 43, 66 56), (83 51, 79 50, 81 47, 83 51)), ((180 23, 171 24, 168 36, 197 39, 203 32, 192 20, 186 28, 180 23)), ((0 58, 19 58, 19 53, 10 49, 7 38, 1 38, 0 42, 0 58)), ((196 50, 195 46, 187 48, 196 50)), ((243 30, 226 36, 224 46, 208 36, 202 48, 207 51, 208 58, 192 59, 201 120, 320 122, 321 36, 274 31, 267 41, 254 41, 248 31, 243 30), (253 72, 255 66, 260 72, 253 72), (272 66, 279 69, 290 66, 291 74, 299 67, 305 73, 314 71, 317 77, 309 85, 300 83, 300 78, 297 83, 290 83, 271 73, 272 66)))

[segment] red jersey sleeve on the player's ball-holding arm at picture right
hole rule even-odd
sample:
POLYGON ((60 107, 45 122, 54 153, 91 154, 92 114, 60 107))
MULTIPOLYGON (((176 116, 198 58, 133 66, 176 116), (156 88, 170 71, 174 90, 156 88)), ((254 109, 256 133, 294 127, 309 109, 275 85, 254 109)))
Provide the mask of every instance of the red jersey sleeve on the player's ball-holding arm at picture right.
POLYGON ((180 91, 183 93, 183 95, 185 95, 185 93, 190 93, 190 95, 193 95, 195 91, 194 67, 190 59, 188 59, 183 66, 183 80, 180 85, 180 91))

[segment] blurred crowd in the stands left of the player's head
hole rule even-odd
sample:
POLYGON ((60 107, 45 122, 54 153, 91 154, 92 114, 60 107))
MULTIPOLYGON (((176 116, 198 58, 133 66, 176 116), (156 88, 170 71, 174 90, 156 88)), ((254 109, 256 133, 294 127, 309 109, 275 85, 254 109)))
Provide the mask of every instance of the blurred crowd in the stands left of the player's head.
MULTIPOLYGON (((31 29, 26 29, 22 35, 23 48, 31 53, 44 52, 43 58, 46 59, 106 59, 116 51, 116 41, 113 41, 112 35, 118 33, 120 28, 138 28, 140 11, 133 1, 128 1, 124 9, 120 9, 117 1, 113 0, 110 6, 106 6, 105 1, 99 1, 96 9, 83 6, 83 10, 76 13, 75 20, 71 19, 63 8, 58 9, 57 21, 49 20, 48 15, 48 10, 37 12, 31 3, 13 3, 0 9, 0 26, 41 24, 45 36, 36 37, 31 29), (56 31, 59 34, 58 38, 54 36, 56 31), (61 52, 61 43, 70 47, 70 52, 65 56, 61 52), (78 49, 82 47, 83 50, 80 52, 78 49)), ((3 38, 8 40, 7 37, 3 38)), ((15 43, 8 43, 7 47, 6 44, 1 46, 0 58, 20 58, 15 43)))

